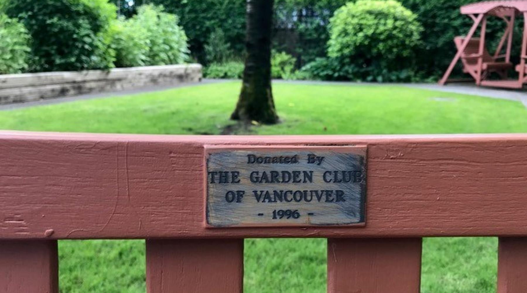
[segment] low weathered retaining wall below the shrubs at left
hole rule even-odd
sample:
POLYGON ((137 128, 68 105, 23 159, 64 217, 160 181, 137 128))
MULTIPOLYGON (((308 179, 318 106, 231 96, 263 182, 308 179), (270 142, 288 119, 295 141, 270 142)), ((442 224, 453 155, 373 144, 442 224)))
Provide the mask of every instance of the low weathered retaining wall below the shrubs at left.
POLYGON ((118 68, 111 71, 45 72, 0 75, 0 104, 79 94, 169 86, 201 81, 201 65, 118 68))

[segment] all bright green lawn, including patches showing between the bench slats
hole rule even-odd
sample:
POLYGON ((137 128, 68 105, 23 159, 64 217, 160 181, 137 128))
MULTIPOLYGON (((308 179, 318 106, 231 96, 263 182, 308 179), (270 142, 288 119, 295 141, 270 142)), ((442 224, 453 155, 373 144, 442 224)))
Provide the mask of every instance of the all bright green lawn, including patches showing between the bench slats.
MULTIPOLYGON (((0 129, 219 134, 239 83, 0 112, 0 129)), ((399 86, 274 86, 282 123, 253 134, 418 134, 527 132, 518 102, 399 86)), ((492 293, 495 238, 426 238, 423 293, 492 293)), ((143 292, 144 241, 61 241, 61 291, 143 292)), ((247 239, 246 293, 323 293, 324 239, 247 239)))

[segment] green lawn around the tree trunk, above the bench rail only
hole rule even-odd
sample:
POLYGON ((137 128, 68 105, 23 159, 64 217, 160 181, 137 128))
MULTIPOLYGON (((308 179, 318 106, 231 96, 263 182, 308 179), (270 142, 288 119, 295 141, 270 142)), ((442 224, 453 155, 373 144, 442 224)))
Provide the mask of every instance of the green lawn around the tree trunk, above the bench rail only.
MULTIPOLYGON (((63 103, 0 114, 0 129, 219 134, 239 84, 223 83, 63 103)), ((274 86, 282 123, 256 134, 417 134, 527 131, 519 102, 398 86, 274 86)))

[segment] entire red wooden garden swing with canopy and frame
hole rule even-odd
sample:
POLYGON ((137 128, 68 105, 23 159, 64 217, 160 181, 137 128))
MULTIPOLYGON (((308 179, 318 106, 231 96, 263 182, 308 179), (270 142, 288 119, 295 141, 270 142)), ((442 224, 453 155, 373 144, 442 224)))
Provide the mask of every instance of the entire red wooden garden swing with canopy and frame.
POLYGON ((462 6, 461 13, 469 15, 473 19, 474 25, 466 36, 454 38, 457 54, 439 83, 444 85, 451 81, 448 77, 452 74, 456 63, 461 59, 463 72, 469 73, 477 85, 521 89, 524 84, 527 84, 527 21, 524 21, 520 64, 513 66, 511 63, 514 21, 516 16, 519 15, 523 15, 524 19, 527 20, 527 1, 509 0, 473 3, 462 6), (489 54, 485 47, 488 16, 500 17, 507 25, 493 56, 489 54), (480 37, 474 37, 480 25, 480 37), (502 54, 503 49, 505 52, 502 54), (518 72, 518 79, 508 78, 508 71, 513 68, 518 72), (493 72, 499 74, 501 79, 488 79, 493 72))

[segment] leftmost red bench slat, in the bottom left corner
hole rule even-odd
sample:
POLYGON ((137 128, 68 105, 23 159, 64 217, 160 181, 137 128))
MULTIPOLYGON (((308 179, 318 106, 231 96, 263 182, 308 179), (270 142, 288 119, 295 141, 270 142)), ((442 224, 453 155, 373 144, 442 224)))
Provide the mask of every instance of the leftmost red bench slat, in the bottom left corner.
POLYGON ((0 293, 58 293, 57 241, 0 241, 0 293))

